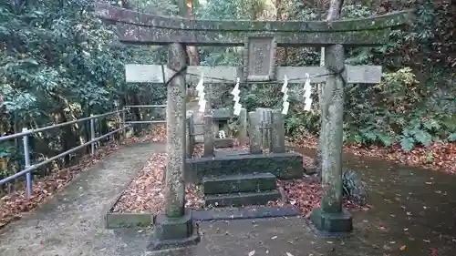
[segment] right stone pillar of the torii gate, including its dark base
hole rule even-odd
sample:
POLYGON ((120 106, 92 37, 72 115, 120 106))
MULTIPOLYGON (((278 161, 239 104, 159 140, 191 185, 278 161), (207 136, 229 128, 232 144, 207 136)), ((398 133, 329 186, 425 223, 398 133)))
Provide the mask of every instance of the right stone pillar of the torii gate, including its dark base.
POLYGON ((312 211, 318 230, 344 232, 353 229, 351 214, 342 208, 342 148, 345 87, 345 50, 336 45, 326 48, 326 78, 322 100, 321 168, 323 197, 321 207, 312 211))

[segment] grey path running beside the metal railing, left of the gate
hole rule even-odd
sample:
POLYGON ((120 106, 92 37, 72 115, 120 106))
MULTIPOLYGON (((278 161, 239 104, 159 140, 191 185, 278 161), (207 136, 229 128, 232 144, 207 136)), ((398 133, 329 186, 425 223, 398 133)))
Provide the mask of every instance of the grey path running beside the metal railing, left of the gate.
POLYGON ((0 255, 139 255, 134 251, 142 250, 135 245, 142 247, 147 239, 138 238, 141 231, 128 230, 133 232, 129 235, 106 230, 103 215, 150 155, 165 151, 162 143, 120 148, 81 173, 46 205, 1 230, 0 255))

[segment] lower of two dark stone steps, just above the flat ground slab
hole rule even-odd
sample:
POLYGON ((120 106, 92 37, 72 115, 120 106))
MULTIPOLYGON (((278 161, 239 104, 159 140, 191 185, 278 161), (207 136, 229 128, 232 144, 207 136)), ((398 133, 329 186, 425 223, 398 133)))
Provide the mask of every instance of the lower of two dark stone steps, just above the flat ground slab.
POLYGON ((206 207, 237 207, 246 205, 265 205, 268 201, 278 200, 279 198, 280 192, 274 189, 263 192, 207 195, 204 197, 204 200, 206 207))

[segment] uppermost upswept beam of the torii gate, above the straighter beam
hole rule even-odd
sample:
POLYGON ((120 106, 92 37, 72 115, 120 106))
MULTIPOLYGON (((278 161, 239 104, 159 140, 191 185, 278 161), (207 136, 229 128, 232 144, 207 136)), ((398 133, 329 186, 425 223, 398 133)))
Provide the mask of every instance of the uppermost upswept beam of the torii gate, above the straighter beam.
POLYGON ((97 15, 101 18, 130 23, 139 26, 154 26, 173 30, 215 30, 220 32, 260 31, 264 32, 339 32, 354 30, 376 30, 401 26, 412 21, 412 10, 379 15, 361 19, 326 21, 249 21, 249 20, 187 20, 176 17, 162 17, 137 12, 123 11, 119 7, 98 4, 97 15))

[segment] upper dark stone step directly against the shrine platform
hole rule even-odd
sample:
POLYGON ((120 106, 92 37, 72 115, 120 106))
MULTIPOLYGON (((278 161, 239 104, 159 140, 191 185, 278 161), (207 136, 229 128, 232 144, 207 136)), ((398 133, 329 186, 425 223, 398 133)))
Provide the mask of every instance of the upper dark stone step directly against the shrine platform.
POLYGON ((235 192, 258 192, 275 189, 277 178, 272 173, 234 174, 202 179, 205 195, 235 192))

